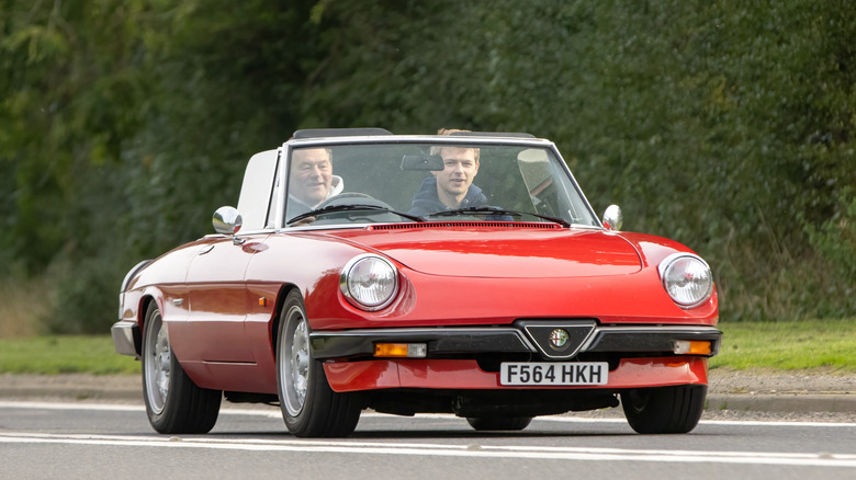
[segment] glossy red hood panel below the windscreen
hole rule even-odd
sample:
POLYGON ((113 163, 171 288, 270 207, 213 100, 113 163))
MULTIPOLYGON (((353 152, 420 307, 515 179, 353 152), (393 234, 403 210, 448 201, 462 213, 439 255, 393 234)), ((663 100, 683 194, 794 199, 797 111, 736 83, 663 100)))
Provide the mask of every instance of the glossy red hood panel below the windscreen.
POLYGON ((339 236, 430 275, 549 278, 629 275, 642 267, 633 245, 600 230, 412 228, 339 236))

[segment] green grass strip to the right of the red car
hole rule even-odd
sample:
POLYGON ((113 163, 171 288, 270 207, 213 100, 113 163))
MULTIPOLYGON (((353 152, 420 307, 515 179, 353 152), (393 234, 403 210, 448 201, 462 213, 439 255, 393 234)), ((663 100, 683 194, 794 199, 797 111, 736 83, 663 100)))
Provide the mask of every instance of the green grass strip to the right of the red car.
POLYGON ((723 322, 712 368, 856 372, 856 319, 723 322))

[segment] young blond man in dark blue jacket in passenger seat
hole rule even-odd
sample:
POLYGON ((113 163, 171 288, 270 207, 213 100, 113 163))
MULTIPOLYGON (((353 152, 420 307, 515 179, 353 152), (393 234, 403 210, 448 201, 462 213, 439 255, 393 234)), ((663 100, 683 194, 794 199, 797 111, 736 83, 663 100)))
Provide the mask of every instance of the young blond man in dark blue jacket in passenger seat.
MULTIPOLYGON (((455 129, 440 129, 438 135, 449 135, 455 129)), ((425 216, 442 210, 482 207, 487 197, 482 188, 473 185, 478 173, 478 149, 466 147, 433 147, 431 155, 443 159, 443 169, 431 172, 432 176, 423 180, 419 191, 413 199, 410 215, 425 216)))

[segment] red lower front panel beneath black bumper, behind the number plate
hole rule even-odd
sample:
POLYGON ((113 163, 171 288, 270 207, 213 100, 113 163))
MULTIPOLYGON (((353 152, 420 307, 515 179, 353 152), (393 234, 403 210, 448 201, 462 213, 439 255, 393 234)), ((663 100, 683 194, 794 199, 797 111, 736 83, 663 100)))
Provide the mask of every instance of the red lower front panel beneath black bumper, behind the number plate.
MULTIPOLYGON (((378 359, 330 362, 324 372, 334 391, 382 388, 520 389, 499 384, 499 374, 484 372, 471 359, 378 359)), ((624 358, 609 373, 607 385, 623 389, 708 382, 708 359, 701 357, 624 358)), ((543 388, 543 387, 531 387, 543 388)), ((593 388, 593 387, 553 387, 593 388)))

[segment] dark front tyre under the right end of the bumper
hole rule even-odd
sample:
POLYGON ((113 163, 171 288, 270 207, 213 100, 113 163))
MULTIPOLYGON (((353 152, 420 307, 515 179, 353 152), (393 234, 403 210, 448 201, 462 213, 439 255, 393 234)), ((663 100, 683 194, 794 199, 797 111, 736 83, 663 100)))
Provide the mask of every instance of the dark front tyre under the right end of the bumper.
POLYGON ((707 385, 639 388, 621 393, 621 407, 638 433, 687 433, 705 410, 707 385))

